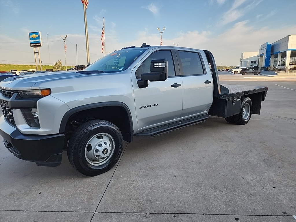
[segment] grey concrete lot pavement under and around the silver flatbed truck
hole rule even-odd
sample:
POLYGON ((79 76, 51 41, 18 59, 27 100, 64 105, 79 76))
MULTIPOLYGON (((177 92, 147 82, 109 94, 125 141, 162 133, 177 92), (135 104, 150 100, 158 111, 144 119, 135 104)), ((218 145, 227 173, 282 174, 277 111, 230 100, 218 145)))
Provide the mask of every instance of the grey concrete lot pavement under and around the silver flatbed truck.
POLYGON ((296 221, 296 82, 221 83, 268 86, 261 115, 134 137, 96 177, 66 153, 60 167, 40 167, 1 142, 0 221, 296 221))

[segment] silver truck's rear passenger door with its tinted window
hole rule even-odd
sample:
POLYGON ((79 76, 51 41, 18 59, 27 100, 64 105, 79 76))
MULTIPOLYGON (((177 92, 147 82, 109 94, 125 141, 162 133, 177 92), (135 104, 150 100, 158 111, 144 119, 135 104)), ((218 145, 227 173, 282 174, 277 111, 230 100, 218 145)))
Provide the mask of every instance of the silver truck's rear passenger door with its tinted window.
POLYGON ((201 53, 204 52, 177 51, 183 82, 181 117, 205 114, 213 102, 213 79, 201 53))

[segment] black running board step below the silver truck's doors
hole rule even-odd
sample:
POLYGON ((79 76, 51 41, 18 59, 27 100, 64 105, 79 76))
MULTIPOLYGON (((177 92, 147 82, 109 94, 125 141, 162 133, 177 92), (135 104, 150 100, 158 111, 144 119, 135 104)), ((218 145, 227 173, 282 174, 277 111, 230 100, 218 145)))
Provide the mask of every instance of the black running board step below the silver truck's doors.
POLYGON ((209 118, 208 114, 192 117, 189 119, 181 120, 175 123, 169 123, 163 126, 158 126, 152 129, 148 129, 145 131, 142 131, 140 133, 134 134, 134 136, 149 136, 149 137, 155 137, 160 136, 162 134, 174 131, 176 129, 181 129, 185 126, 195 125, 198 123, 203 123, 205 120, 209 118))

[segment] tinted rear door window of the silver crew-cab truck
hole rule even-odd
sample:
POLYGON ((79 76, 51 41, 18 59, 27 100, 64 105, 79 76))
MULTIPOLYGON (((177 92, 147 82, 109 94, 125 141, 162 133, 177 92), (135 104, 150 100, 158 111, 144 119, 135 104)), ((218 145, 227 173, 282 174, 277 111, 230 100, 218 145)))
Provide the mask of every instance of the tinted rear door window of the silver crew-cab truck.
POLYGON ((205 71, 200 61, 200 54, 197 52, 178 51, 181 57, 184 75, 202 75, 205 71))

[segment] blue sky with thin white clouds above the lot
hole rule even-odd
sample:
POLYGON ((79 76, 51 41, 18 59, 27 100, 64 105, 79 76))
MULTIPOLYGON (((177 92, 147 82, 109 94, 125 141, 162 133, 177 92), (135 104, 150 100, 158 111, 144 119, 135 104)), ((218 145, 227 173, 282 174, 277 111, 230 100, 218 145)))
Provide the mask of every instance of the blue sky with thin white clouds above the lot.
MULTIPOLYGON (((102 21, 106 51, 160 44, 207 49, 216 64, 238 65, 255 52, 296 34, 295 0, 89 0, 86 10, 91 63, 101 58, 102 21)), ((0 63, 34 64, 28 32, 41 31, 42 64, 65 64, 61 35, 67 35, 67 65, 87 64, 81 0, 0 0, 0 63), (48 35, 46 35, 48 34, 48 35)))

